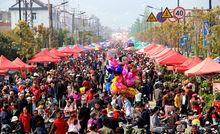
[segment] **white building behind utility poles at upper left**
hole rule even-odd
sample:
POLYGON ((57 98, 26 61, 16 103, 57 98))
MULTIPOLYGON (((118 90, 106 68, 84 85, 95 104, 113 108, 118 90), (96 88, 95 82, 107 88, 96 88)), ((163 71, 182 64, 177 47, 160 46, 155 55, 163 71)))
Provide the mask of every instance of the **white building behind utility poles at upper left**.
MULTIPOLYGON (((60 28, 59 12, 56 8, 51 10, 52 24, 54 29, 60 28)), ((30 26, 37 26, 43 24, 45 27, 49 27, 49 10, 48 5, 40 0, 26 0, 21 2, 21 19, 27 21, 30 26), (32 14, 32 15, 31 15, 32 14)), ((15 28, 18 22, 19 15, 19 2, 9 8, 11 13, 11 28, 15 28)))

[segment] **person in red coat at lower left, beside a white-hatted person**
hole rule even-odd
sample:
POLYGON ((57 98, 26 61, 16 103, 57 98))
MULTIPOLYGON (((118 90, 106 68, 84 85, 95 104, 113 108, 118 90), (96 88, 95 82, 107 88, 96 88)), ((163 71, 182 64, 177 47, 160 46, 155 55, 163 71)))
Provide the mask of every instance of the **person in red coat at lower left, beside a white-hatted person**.
POLYGON ((31 130, 30 122, 31 122, 31 115, 28 113, 26 107, 23 108, 23 112, 19 116, 19 120, 24 126, 25 133, 29 133, 31 130))

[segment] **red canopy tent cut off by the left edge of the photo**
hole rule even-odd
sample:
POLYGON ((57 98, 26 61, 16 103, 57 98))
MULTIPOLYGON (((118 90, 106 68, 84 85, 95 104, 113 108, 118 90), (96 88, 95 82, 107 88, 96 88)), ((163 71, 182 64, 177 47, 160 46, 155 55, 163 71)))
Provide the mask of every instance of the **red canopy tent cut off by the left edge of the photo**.
POLYGON ((10 60, 5 58, 3 55, 0 57, 0 70, 7 70, 7 69, 12 69, 12 70, 18 70, 21 66, 12 63, 10 60))

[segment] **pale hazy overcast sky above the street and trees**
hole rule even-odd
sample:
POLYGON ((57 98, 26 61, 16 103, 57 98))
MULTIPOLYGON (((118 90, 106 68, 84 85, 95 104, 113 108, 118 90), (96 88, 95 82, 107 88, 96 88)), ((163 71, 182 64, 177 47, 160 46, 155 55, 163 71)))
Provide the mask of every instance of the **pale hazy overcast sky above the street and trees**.
MULTIPOLYGON (((0 0, 0 9, 8 10, 16 0, 0 0)), ((42 0, 47 2, 47 0, 42 0)), ((54 4, 62 0, 50 0, 54 4)), ((177 0, 68 0, 71 8, 80 8, 88 15, 98 16, 101 23, 112 28, 127 28, 135 21, 139 14, 143 14, 146 5, 153 7, 168 7, 173 9, 177 0)), ((180 6, 184 8, 208 8, 209 0, 180 0, 180 6)), ((213 7, 220 5, 220 0, 212 0, 213 7)), ((152 9, 152 11, 156 12, 152 9)))

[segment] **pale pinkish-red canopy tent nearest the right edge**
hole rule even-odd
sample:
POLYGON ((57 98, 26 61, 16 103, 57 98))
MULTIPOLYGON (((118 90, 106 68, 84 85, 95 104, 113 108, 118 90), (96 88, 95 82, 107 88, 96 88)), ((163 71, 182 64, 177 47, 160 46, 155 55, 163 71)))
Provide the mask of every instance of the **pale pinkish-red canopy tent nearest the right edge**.
POLYGON ((186 76, 195 76, 202 74, 220 73, 220 64, 211 58, 206 58, 201 63, 185 71, 186 76))

